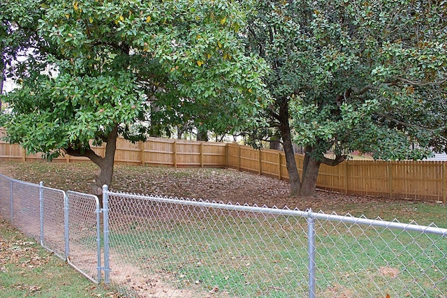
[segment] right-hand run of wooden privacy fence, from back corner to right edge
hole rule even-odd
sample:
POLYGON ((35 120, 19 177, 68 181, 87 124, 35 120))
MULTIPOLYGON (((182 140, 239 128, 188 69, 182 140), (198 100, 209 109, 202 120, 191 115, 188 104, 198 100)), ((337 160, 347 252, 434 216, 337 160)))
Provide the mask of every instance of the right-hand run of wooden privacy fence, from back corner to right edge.
MULTIPOLYGON (((227 144, 228 167, 288 179, 286 156, 277 150, 255 150, 227 144)), ((302 175, 304 156, 295 154, 302 175)), ((445 161, 344 161, 321 165, 316 186, 327 191, 427 201, 446 200, 445 161)))

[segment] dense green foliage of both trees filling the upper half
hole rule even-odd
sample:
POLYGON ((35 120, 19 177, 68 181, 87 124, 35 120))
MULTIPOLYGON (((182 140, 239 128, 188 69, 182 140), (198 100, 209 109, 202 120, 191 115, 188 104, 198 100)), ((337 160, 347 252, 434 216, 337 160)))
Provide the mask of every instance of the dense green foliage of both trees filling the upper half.
POLYGON ((7 96, 6 126, 31 152, 101 166, 91 140, 142 140, 172 126, 223 134, 257 120, 254 134, 281 137, 292 193, 312 195, 320 164, 352 151, 418 159, 447 149, 444 0, 38 0, 1 9, 2 66, 29 54, 8 68, 21 88, 7 96), (306 154, 301 176, 293 143, 306 154))

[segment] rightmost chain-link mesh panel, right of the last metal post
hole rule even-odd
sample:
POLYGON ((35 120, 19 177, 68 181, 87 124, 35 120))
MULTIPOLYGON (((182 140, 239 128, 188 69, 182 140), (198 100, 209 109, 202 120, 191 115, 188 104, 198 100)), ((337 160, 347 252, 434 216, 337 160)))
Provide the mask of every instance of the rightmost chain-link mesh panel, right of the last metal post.
POLYGON ((317 225, 317 297, 447 297, 447 234, 317 225))

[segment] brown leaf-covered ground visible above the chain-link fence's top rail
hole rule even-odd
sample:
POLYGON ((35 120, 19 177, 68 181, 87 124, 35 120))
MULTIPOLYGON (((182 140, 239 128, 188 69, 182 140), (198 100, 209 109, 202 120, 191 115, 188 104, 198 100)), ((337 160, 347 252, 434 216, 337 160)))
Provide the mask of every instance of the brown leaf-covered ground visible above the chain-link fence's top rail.
MULTIPOLYGON (((87 192, 98 174, 93 163, 0 162, 0 173, 45 186, 87 192)), ((395 200, 362 195, 316 191, 315 198, 291 198, 287 181, 230 169, 173 168, 115 165, 112 190, 126 193, 167 195, 233 204, 289 209, 298 208, 354 216, 377 216, 400 221, 420 221, 420 206, 437 204, 416 200, 395 200)), ((439 204, 438 204, 439 205, 439 204)), ((445 204, 441 204, 445 206, 445 204)), ((423 216, 421 224, 437 222, 442 214, 423 216), (430 221, 430 222, 429 222, 430 221)))

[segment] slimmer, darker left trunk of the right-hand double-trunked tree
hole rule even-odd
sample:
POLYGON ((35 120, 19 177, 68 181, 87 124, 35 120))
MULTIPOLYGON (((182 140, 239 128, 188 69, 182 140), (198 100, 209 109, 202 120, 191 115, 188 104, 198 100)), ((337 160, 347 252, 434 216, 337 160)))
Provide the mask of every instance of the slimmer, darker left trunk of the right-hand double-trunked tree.
POLYGON ((279 123, 279 131, 281 133, 284 146, 284 154, 286 155, 288 179, 291 184, 291 196, 300 195, 300 174, 298 174, 298 167, 296 166, 295 162, 295 153, 293 152, 291 127, 288 122, 288 102, 286 98, 282 99, 279 104, 279 123))

